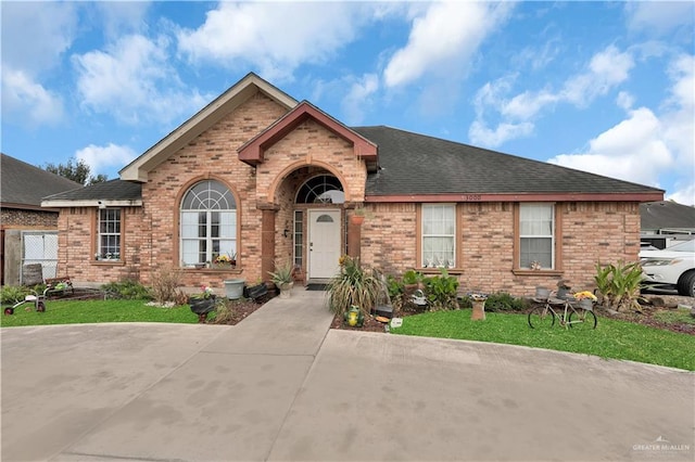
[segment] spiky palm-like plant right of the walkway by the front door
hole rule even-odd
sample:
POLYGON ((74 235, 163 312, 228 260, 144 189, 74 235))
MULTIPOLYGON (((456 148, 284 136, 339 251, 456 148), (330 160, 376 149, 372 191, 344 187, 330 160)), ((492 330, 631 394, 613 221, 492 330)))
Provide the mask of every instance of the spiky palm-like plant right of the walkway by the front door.
POLYGON ((328 307, 341 317, 351 306, 369 315, 387 293, 386 283, 377 271, 363 268, 359 258, 340 257, 340 271, 328 283, 328 307))

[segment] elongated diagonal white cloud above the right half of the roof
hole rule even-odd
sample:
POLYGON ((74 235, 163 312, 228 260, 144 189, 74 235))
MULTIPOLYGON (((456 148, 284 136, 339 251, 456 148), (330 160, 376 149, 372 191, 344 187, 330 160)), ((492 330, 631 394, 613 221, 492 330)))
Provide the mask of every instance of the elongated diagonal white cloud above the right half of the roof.
POLYGON ((543 88, 505 98, 511 90, 514 77, 488 82, 476 93, 477 118, 469 129, 471 142, 495 147, 511 139, 530 136, 533 133, 533 120, 544 110, 561 103, 584 107, 626 81, 632 67, 634 60, 630 52, 620 52, 616 47, 609 46, 594 54, 585 70, 565 80, 557 91, 543 88), (501 118, 496 129, 488 128, 488 112, 501 118), (509 129, 510 127, 522 129, 509 129), (492 133, 495 134, 490 136, 492 133))

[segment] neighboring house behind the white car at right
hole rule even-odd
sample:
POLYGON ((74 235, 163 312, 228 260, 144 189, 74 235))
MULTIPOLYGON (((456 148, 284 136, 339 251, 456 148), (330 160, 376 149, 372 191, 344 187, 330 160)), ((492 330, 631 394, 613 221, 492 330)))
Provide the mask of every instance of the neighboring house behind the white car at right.
POLYGON ((641 241, 656 248, 670 247, 695 238, 695 207, 672 201, 640 205, 641 241))

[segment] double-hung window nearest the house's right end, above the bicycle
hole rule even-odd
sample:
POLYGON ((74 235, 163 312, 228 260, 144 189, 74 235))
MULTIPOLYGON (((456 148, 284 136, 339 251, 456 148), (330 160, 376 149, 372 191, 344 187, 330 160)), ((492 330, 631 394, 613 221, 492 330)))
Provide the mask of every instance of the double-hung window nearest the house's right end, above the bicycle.
POLYGON ((519 267, 555 268, 555 207, 553 204, 520 204, 519 267))

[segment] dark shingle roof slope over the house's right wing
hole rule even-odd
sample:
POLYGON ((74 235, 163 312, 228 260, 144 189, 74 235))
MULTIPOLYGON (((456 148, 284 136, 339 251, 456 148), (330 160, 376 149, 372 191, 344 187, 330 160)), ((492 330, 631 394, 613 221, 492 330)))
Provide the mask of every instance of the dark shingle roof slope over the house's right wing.
POLYGON ((356 127, 379 145, 367 195, 662 193, 661 190, 390 127, 356 127))

